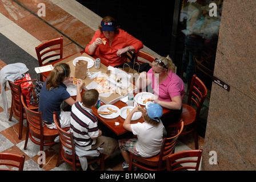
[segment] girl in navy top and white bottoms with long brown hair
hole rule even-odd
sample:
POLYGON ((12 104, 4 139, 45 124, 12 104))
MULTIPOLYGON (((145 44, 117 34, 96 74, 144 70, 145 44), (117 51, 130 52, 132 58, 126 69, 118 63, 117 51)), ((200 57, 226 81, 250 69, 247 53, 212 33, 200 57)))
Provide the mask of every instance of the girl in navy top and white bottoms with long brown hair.
POLYGON ((67 92, 65 83, 73 82, 73 76, 70 76, 70 67, 68 64, 62 63, 54 67, 50 76, 43 84, 40 97, 38 111, 42 112, 43 121, 50 129, 57 129, 53 121, 53 111, 57 111, 59 121, 62 127, 70 126, 70 112, 61 109, 62 102, 72 106, 75 102, 81 102, 82 80, 77 82, 77 98, 74 100, 67 92))

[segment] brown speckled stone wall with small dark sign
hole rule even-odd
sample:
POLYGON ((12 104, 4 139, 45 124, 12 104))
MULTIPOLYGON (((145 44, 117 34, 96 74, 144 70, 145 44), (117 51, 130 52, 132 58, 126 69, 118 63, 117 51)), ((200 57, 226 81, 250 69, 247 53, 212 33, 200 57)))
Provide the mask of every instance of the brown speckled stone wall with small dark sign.
POLYGON ((202 170, 256 169, 255 10, 255 0, 223 3, 214 76, 230 92, 213 83, 202 170), (210 151, 217 164, 209 163, 210 151))

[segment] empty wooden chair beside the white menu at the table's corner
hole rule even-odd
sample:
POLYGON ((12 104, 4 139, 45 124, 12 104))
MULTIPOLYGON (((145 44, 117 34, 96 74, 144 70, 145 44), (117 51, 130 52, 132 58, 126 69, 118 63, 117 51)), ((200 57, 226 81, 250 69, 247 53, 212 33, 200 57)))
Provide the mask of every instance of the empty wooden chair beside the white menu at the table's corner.
MULTIPOLYGON (((37 52, 37 59, 39 67, 55 61, 55 56, 59 56, 59 59, 62 59, 63 56, 63 37, 57 39, 48 40, 39 46, 35 47, 35 52, 37 52), (55 52, 57 51, 57 52, 55 52), (42 53, 41 53, 42 52, 42 53), (54 60, 53 57, 55 58, 54 60)), ((43 77, 40 75, 40 81, 43 81, 43 77)))

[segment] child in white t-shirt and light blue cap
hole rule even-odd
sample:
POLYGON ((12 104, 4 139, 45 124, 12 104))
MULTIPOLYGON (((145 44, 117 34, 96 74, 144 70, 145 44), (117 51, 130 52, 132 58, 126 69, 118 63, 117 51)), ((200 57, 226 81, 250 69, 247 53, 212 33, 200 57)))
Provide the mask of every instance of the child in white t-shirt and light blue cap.
POLYGON ((135 107, 123 123, 123 128, 133 132, 137 138, 118 140, 121 154, 125 159, 124 170, 129 167, 129 152, 143 158, 150 158, 161 150, 164 126, 159 118, 163 114, 162 107, 159 104, 150 104, 142 115, 145 122, 131 124, 131 117, 138 111, 141 111, 140 108, 135 107))

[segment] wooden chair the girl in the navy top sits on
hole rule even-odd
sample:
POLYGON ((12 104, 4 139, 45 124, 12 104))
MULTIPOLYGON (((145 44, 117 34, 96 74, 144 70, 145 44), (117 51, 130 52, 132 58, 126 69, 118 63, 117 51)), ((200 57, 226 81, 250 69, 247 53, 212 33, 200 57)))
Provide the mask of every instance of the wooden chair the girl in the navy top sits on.
MULTIPOLYGON (((22 105, 26 111, 27 117, 27 130, 26 130, 26 140, 24 145, 24 150, 27 149, 27 142, 29 138, 35 144, 40 146, 40 151, 43 151, 43 146, 53 146, 56 144, 54 139, 58 136, 57 130, 52 130, 43 125, 42 113, 30 110, 27 105, 23 94, 21 94, 22 105), (35 138, 39 139, 36 140, 35 138)), ((42 164, 39 164, 42 168, 42 164)))

